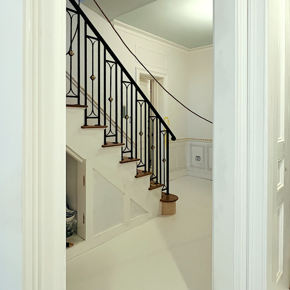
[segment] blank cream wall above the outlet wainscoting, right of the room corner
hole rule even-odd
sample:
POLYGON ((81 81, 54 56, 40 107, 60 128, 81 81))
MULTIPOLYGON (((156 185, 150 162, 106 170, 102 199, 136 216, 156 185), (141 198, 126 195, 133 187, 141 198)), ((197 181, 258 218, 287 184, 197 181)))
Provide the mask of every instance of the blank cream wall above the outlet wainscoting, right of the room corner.
MULTIPOLYGON (((213 46, 189 54, 188 107, 213 121, 213 46)), ((213 139, 213 125, 188 112, 188 137, 213 139)))

